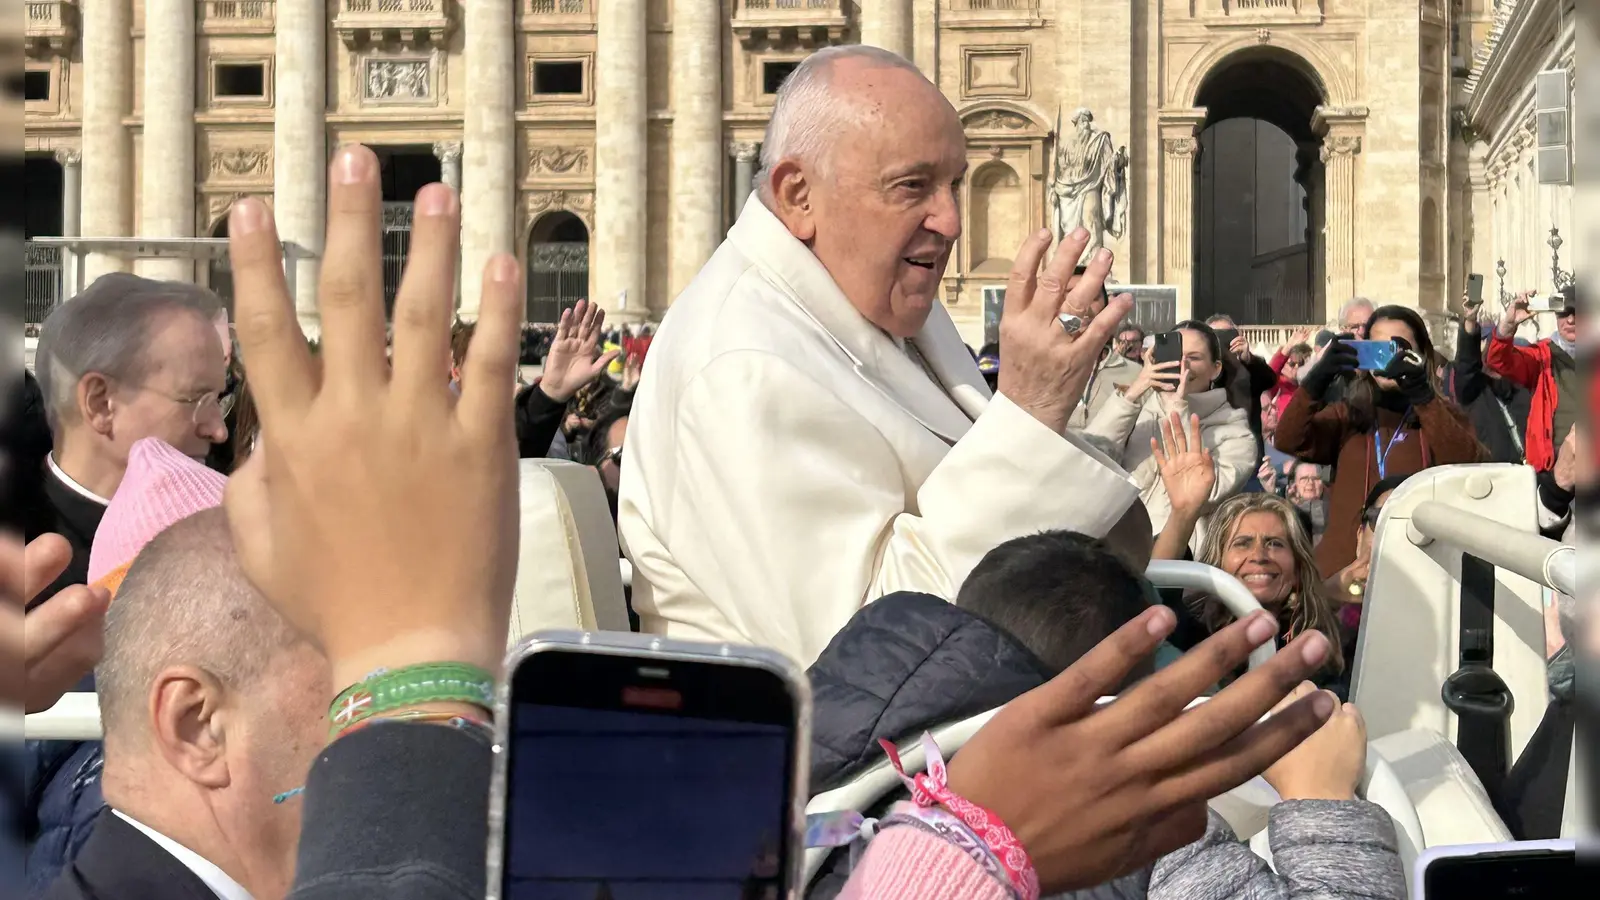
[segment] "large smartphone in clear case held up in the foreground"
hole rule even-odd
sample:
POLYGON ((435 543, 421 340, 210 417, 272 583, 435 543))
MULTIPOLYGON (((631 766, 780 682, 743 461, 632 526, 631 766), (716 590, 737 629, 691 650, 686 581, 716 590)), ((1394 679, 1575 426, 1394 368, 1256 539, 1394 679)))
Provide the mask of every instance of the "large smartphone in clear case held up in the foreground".
POLYGON ((757 647, 541 631, 496 709, 488 897, 798 897, 811 695, 757 647))

